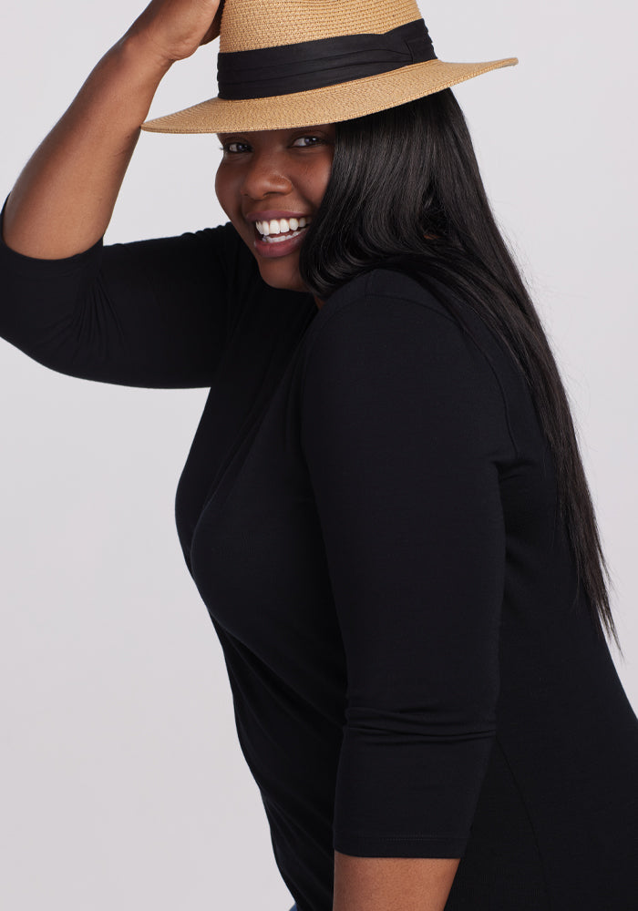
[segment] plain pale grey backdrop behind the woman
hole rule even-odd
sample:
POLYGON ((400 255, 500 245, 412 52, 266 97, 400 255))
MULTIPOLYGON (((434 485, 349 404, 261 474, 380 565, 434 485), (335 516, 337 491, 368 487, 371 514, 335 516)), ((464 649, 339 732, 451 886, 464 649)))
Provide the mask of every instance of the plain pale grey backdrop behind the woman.
MULTIPOLYGON (((635 31, 626 0, 421 3, 437 55, 519 56, 454 89, 570 394, 638 706, 635 31)), ((5 0, 0 195, 132 0, 5 0)), ((218 42, 150 116, 216 94, 218 42)), ((211 136, 142 133, 106 242, 225 217, 211 136)), ((173 498, 207 391, 57 374, 0 340, 0 906, 286 911, 221 647, 173 498)))

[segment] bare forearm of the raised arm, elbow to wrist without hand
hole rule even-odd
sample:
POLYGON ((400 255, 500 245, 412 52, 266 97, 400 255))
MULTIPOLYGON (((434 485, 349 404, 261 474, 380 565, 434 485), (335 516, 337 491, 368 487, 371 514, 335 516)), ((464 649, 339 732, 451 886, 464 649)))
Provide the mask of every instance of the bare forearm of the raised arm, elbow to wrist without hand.
POLYGON ((169 68, 143 37, 129 33, 102 57, 15 182, 5 209, 9 247, 59 259, 102 237, 139 126, 169 68))

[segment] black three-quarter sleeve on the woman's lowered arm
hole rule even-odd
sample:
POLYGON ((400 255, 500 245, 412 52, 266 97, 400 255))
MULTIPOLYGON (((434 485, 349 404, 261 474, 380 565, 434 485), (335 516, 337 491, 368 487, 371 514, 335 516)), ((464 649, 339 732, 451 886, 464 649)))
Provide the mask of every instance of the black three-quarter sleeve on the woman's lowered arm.
POLYGON ((496 732, 512 443, 458 322, 373 286, 326 314, 301 393, 347 670, 334 849, 459 857, 496 732))

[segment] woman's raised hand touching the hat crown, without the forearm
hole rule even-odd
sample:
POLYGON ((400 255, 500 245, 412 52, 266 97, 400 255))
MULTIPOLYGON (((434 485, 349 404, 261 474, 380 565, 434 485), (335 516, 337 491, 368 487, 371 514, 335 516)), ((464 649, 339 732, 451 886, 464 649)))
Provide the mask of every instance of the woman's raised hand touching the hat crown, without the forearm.
POLYGON ((217 37, 220 19, 220 0, 151 0, 123 40, 147 44, 170 66, 217 37))

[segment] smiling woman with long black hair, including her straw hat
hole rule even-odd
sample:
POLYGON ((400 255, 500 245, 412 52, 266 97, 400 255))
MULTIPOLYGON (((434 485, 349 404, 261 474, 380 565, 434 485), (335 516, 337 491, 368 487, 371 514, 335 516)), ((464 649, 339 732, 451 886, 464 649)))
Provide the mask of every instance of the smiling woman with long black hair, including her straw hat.
POLYGON ((299 911, 631 907, 592 501, 449 88, 516 61, 442 63, 410 0, 326 8, 227 0, 222 97, 145 127, 218 134, 229 223, 104 248, 160 78, 220 26, 153 0, 5 204, 0 330, 211 387, 180 544, 299 911))

